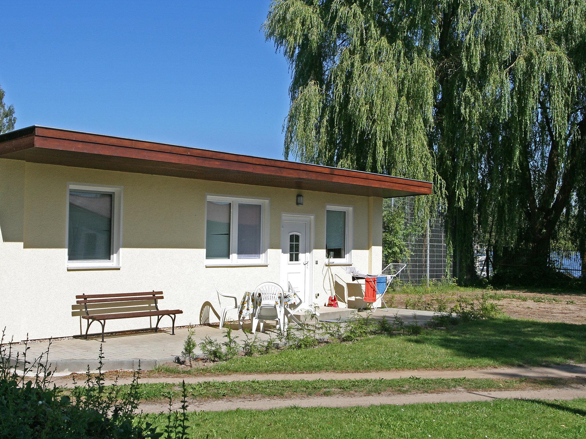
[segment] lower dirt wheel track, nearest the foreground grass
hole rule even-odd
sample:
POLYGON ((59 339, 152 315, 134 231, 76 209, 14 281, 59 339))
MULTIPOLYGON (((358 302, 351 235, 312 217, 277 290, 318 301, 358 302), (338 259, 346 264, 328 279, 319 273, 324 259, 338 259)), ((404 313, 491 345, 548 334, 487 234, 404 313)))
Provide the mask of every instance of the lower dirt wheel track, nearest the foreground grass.
MULTIPOLYGON (((360 396, 302 396, 292 398, 237 398, 197 402, 189 400, 188 411, 221 411, 236 409, 270 410, 282 407, 356 407, 381 404, 405 405, 417 403, 490 401, 494 399, 575 399, 586 397, 586 386, 567 386, 544 390, 500 390, 498 392, 472 392, 458 390, 444 393, 415 393, 397 395, 379 393, 360 396)), ((172 404, 172 409, 180 409, 181 403, 172 404)), ((145 402, 138 407, 144 413, 159 413, 169 409, 168 403, 145 402)))

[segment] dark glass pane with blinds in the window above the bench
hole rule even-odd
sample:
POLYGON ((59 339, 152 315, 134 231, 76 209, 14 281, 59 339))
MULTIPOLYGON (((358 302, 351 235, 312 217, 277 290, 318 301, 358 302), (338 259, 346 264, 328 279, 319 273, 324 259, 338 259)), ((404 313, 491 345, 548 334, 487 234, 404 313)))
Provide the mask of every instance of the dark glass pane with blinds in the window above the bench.
POLYGON ((113 259, 114 194, 70 190, 67 258, 70 261, 113 259))

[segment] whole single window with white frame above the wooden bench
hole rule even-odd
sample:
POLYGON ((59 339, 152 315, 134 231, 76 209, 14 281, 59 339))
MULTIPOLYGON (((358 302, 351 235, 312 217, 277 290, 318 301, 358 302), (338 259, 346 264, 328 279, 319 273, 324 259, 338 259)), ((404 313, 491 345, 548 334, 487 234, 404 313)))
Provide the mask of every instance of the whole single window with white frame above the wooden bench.
POLYGON ((70 184, 67 196, 67 267, 117 267, 121 188, 70 184))

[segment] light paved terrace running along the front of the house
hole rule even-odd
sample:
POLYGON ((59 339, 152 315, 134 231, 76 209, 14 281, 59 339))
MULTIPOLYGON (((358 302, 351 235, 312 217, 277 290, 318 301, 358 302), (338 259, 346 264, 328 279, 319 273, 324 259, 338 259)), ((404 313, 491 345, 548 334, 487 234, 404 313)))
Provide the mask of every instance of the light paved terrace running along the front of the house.
MULTIPOLYGON (((353 310, 344 308, 321 308, 319 310, 319 320, 335 320, 338 317, 349 315, 353 310)), ((413 323, 413 313, 417 315, 417 322, 425 324, 431 320, 434 313, 431 311, 414 311, 403 308, 389 308, 389 311, 377 310, 373 313, 374 320, 387 318, 393 320, 394 315, 403 319, 404 323, 413 323)), ((360 315, 366 315, 360 312, 360 315)), ((227 328, 233 329, 233 336, 238 337, 242 342, 246 337, 253 337, 244 331, 238 330, 237 324, 225 324, 220 330, 216 326, 198 326, 195 328, 195 339, 198 344, 196 348, 197 356, 201 356, 199 343, 206 336, 217 339, 222 342, 227 328)), ((244 324, 244 329, 251 328, 250 323, 244 324)), ((270 324, 265 324, 266 333, 258 332, 259 339, 265 340, 270 336, 275 337, 276 332, 270 324)), ((98 354, 100 345, 104 352, 103 371, 115 370, 134 370, 140 366, 142 370, 152 370, 157 365, 164 363, 176 362, 183 350, 183 341, 188 335, 188 329, 176 328, 175 335, 171 335, 171 328, 162 328, 158 332, 139 331, 139 332, 118 332, 116 334, 106 335, 105 343, 101 343, 101 334, 90 335, 86 340, 83 337, 71 337, 53 340, 49 349, 49 363, 51 369, 55 369, 57 375, 67 375, 72 372, 86 372, 89 366, 91 371, 96 371, 98 367, 98 354)), ((29 351, 27 360, 31 361, 47 351, 49 348, 48 340, 29 342, 29 351)), ((12 357, 16 352, 22 352, 25 349, 23 344, 12 346, 12 357)), ((21 354, 22 355, 22 354, 21 354)), ((43 361, 44 362, 44 361, 43 361)))

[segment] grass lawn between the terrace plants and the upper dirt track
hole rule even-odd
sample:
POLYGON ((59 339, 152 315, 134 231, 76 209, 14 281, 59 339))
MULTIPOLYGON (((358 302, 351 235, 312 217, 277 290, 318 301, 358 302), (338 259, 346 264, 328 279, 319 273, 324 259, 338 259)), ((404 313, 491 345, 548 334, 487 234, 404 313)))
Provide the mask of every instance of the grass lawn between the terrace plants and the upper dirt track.
POLYGON ((155 373, 383 371, 584 363, 585 337, 586 325, 499 317, 445 330, 424 330, 421 335, 376 335, 314 349, 237 356, 205 369, 162 367, 155 373))

